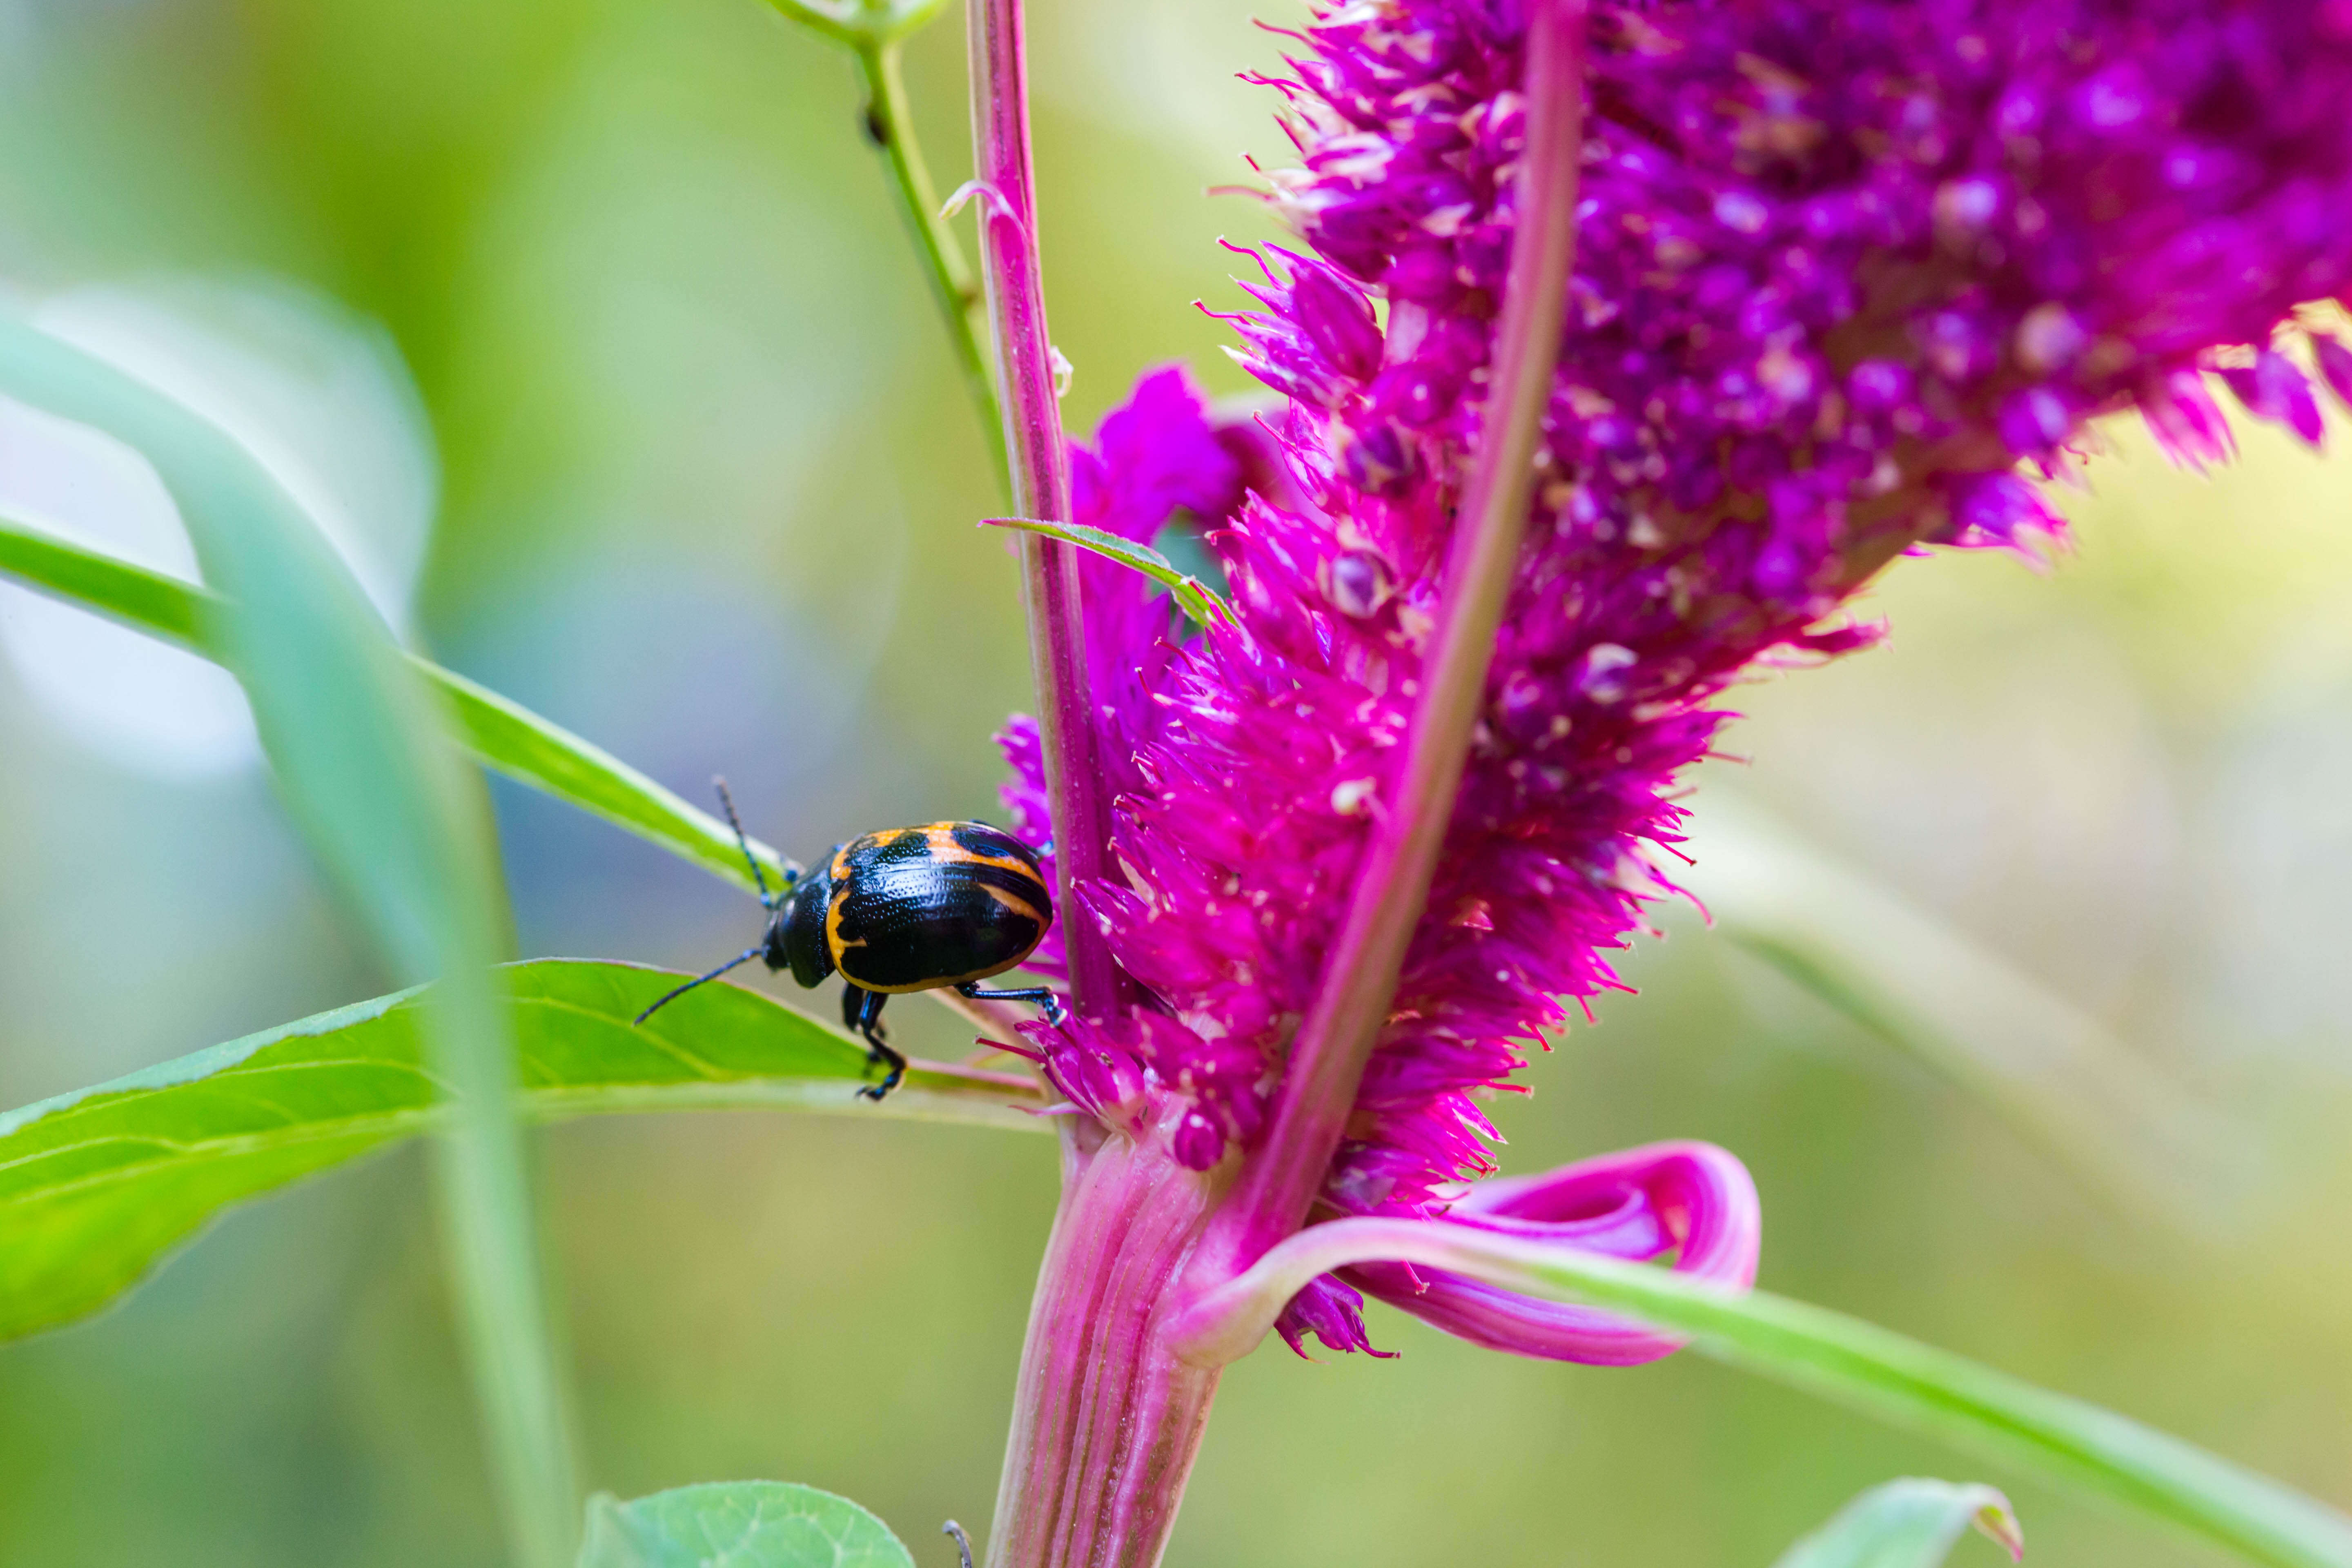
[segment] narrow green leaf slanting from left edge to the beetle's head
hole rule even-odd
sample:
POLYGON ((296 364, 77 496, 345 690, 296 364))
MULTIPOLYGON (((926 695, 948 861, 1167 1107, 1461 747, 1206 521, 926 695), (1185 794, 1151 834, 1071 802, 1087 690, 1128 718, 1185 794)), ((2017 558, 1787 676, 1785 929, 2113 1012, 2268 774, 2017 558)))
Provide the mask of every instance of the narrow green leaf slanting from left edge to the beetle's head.
MULTIPOLYGON (((228 602, 193 583, 85 550, 7 517, 0 517, 0 574, 202 658, 226 661, 214 628, 228 602)), ((423 658, 409 656, 409 663, 440 689, 459 741, 485 766, 600 816, 746 891, 753 889, 743 851, 727 823, 689 806, 612 752, 520 703, 423 658)), ((757 839, 753 853, 774 877, 790 865, 757 839)))

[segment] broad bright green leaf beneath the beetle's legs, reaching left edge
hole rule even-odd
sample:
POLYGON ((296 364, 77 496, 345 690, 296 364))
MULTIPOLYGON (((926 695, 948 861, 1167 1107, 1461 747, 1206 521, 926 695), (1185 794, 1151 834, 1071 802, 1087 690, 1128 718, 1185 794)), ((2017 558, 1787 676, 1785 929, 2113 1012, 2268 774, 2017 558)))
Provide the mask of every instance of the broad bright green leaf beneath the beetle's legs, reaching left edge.
MULTIPOLYGON (((917 1060, 887 1100, 866 1046, 734 985, 630 1020, 682 976, 541 959, 501 971, 520 1110, 821 1110, 1049 1131, 1002 1072, 917 1060)), ((96 1312, 233 1204, 447 1124, 423 990, 303 1018, 0 1114, 0 1340, 96 1312)))

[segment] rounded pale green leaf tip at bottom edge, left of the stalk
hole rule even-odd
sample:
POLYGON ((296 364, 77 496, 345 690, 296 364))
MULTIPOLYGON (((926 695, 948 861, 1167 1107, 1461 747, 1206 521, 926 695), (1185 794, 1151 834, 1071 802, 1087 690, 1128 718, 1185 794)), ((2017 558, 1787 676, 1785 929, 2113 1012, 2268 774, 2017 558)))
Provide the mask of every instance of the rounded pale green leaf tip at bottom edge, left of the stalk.
POLYGON ((579 1568, 915 1568, 849 1497, 783 1481, 710 1481, 588 1500, 579 1568))

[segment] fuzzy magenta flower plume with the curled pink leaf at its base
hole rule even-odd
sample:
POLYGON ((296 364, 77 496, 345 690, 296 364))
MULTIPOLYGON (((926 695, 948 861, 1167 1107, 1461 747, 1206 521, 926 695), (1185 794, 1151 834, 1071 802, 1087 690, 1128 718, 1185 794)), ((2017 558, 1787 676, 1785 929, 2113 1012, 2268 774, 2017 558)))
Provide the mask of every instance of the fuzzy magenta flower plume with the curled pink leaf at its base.
MULTIPOLYGON (((1268 200, 1303 244, 1261 256, 1235 357, 1284 397, 1287 482, 1244 489, 1174 371, 1077 458, 1080 522, 1209 524, 1237 623, 1178 642, 1143 578, 1087 564, 1120 877, 1073 917, 1148 1004, 1030 1039, 1082 1112, 1195 1171, 1261 1135, 1390 809, 1489 418, 1519 16, 1329 9, 1270 82, 1301 167, 1268 200)), ((1534 520, 1317 1213, 1552 1225, 1745 1279, 1745 1175, 1691 1157, 1465 1190, 1494 1171, 1472 1095, 1621 985, 1609 954, 1672 891, 1677 780, 1745 670, 1867 644, 1835 616, 1905 550, 2056 538, 2018 465, 2065 468, 2093 416, 2136 407, 2183 461, 2225 456, 2206 369, 2321 437, 2296 355, 2352 397, 2352 353, 2293 313, 2352 289, 2352 9, 1757 0, 1597 9, 1590 49, 1534 520)), ((1042 837, 1033 733, 1007 750, 1042 837)), ((1430 1269, 1348 1276, 1508 1349, 1656 1354, 1430 1269)), ((1282 1328, 1364 1347, 1357 1300, 1324 1276, 1282 1328)))

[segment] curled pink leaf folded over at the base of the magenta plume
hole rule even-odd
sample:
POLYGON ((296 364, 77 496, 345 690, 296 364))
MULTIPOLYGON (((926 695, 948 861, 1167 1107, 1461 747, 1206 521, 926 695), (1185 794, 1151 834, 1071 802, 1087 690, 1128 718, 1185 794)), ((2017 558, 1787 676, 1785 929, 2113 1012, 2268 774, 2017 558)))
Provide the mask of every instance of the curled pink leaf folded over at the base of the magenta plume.
MULTIPOLYGON (((1677 1253, 1675 1272, 1743 1288, 1755 1284, 1764 1241, 1748 1166, 1712 1143, 1651 1143, 1541 1175, 1479 1182, 1439 1225, 1609 1258, 1677 1253)), ((1534 1300, 1444 1269, 1362 1262, 1341 1279, 1472 1345, 1519 1356, 1637 1366, 1682 1347, 1597 1307, 1534 1300)))

